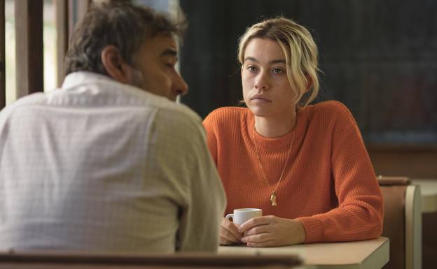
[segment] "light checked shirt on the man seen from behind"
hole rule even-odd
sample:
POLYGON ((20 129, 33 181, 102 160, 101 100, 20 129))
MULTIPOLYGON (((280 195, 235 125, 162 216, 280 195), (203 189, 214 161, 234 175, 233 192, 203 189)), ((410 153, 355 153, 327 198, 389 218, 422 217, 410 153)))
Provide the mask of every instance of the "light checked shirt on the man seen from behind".
POLYGON ((0 115, 1 247, 214 250, 224 199, 200 118, 167 99, 81 72, 0 115))

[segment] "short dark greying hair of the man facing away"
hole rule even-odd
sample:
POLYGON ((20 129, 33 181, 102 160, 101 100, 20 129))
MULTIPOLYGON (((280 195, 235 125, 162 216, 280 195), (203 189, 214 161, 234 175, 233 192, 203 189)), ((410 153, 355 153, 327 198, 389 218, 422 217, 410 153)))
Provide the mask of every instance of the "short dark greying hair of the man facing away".
POLYGON ((90 71, 106 75, 100 56, 106 45, 114 45, 123 60, 134 65, 134 56, 144 41, 158 34, 175 34, 181 38, 186 24, 183 13, 171 20, 127 0, 95 3, 71 35, 65 74, 90 71))

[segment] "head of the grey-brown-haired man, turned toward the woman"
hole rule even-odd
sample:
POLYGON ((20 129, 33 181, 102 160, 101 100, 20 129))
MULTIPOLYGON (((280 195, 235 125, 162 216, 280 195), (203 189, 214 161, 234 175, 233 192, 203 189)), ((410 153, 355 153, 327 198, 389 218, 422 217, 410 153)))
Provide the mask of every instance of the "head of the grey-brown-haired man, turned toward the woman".
POLYGON ((65 73, 90 71, 175 100, 187 92, 174 69, 186 21, 130 1, 92 6, 71 36, 65 73))

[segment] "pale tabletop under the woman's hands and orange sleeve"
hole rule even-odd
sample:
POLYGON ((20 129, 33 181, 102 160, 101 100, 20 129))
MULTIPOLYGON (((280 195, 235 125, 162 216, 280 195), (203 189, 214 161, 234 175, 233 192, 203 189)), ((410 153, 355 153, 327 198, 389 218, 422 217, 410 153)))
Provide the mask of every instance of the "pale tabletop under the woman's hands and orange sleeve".
POLYGON ((302 268, 378 269, 389 261, 389 239, 376 238, 357 242, 335 242, 286 247, 221 246, 220 254, 287 255, 303 259, 302 268))

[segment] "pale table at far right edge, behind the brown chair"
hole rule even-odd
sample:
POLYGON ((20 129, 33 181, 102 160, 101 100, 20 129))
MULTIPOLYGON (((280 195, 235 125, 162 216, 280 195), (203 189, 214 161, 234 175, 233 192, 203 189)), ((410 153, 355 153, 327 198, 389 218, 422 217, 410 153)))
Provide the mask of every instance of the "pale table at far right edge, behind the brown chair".
POLYGON ((437 179, 412 179, 411 184, 420 186, 422 213, 437 212, 437 179))

